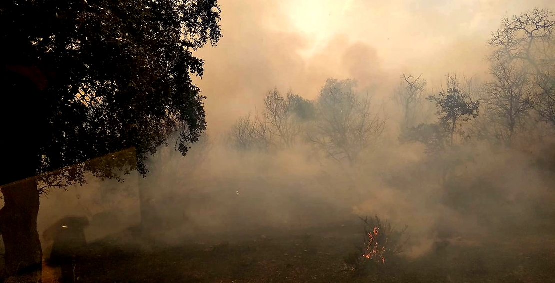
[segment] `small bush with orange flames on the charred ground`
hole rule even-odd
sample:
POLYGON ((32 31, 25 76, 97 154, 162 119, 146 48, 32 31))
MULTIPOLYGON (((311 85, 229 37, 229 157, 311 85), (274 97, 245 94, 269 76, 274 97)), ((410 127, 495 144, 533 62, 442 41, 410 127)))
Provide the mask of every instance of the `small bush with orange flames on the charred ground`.
POLYGON ((395 255, 405 250, 405 245, 410 238, 403 229, 397 229, 388 220, 381 222, 378 215, 374 218, 360 218, 364 222, 364 243, 359 250, 351 253, 346 258, 351 270, 364 270, 370 265, 385 265, 395 255))

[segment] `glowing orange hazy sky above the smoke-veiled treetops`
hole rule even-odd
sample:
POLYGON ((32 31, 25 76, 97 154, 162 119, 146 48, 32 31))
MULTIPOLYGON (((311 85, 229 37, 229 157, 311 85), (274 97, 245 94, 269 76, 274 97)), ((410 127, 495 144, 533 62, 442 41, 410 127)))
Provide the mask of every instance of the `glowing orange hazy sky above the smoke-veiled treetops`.
POLYGON ((428 81, 487 71, 487 40, 501 18, 549 8, 551 0, 220 0, 218 47, 203 80, 211 131, 258 107, 265 92, 291 88, 309 99, 327 78, 387 85, 403 73, 428 81))

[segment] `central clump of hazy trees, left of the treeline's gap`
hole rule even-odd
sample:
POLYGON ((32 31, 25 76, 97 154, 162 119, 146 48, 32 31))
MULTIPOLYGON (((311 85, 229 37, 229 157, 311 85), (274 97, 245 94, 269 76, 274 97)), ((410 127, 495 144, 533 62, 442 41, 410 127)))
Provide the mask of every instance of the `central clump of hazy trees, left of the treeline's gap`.
POLYGON ((238 150, 275 151, 311 143, 337 161, 356 162, 384 131, 385 117, 372 110, 371 96, 358 95, 354 80, 329 79, 316 100, 275 89, 261 115, 241 117, 231 128, 238 150))

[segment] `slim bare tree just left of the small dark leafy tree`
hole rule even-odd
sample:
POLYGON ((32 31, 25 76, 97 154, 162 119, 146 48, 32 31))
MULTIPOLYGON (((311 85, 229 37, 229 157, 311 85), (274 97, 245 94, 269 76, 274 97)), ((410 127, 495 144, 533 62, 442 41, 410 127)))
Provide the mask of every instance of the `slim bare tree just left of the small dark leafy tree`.
POLYGON ((413 123, 416 111, 422 105, 422 96, 426 89, 426 80, 421 79, 421 76, 414 77, 405 74, 401 76, 402 83, 396 91, 396 100, 403 110, 401 122, 403 128, 415 126, 413 123))

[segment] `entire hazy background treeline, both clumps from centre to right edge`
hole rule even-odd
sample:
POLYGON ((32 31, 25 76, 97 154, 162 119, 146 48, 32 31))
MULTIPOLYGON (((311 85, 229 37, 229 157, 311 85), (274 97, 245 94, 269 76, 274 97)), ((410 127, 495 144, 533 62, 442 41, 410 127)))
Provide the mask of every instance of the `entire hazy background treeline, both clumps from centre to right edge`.
MULTIPOLYGON (((401 113, 399 141, 420 142, 426 152, 444 155, 473 142, 526 148, 552 135, 554 19, 544 9, 502 19, 487 43, 493 51, 486 81, 452 74, 445 88, 432 92, 421 76, 403 74, 390 94, 401 113)), ((266 152, 304 143, 354 164, 372 150, 387 120, 384 107, 372 103, 371 91, 355 90, 354 80, 329 79, 315 100, 269 91, 261 114, 236 121, 229 143, 241 151, 266 152)))

